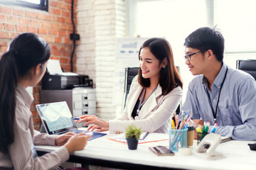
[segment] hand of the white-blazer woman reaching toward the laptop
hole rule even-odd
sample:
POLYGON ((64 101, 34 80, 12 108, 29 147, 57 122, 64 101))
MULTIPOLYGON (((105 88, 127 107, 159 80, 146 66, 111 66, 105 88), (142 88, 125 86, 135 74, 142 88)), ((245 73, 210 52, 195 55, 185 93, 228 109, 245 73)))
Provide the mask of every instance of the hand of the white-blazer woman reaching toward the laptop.
POLYGON ((102 128, 109 128, 109 123, 106 122, 105 120, 98 118, 96 115, 82 115, 78 118, 79 120, 76 120, 75 122, 76 123, 86 122, 85 125, 83 126, 87 126, 90 123, 92 123, 102 128))

